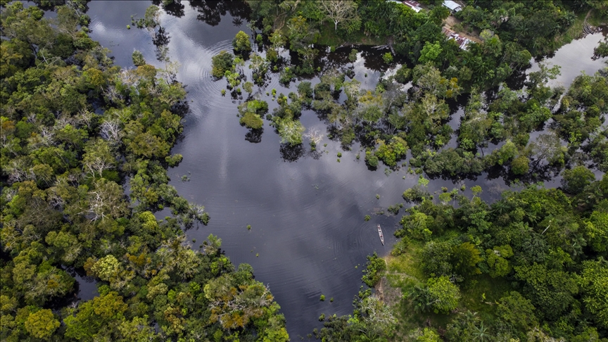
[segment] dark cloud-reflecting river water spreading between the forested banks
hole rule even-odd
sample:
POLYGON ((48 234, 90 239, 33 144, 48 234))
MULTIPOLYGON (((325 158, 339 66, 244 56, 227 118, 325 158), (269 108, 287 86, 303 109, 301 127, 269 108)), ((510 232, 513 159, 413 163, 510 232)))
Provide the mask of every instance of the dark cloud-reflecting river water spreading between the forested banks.
MULTIPOLYGON (((164 68, 156 60, 153 34, 126 28, 130 16, 143 16, 150 4, 89 3, 91 37, 111 49, 115 62, 123 67, 132 67, 131 53, 138 49, 148 63, 164 68)), ((395 242, 398 217, 373 213, 403 202, 401 194, 417 184, 418 177, 407 175, 405 168, 390 175, 385 175, 384 167, 369 171, 362 158, 355 158, 357 146, 342 151, 339 142, 327 137, 319 144, 320 156, 308 151, 308 141, 303 151, 281 148, 280 138, 268 122, 261 136, 247 135, 248 129, 236 117, 239 100, 229 94, 221 96, 226 81, 210 78, 211 57, 232 50, 232 38, 239 30, 251 34, 246 20, 239 20, 243 9, 184 1, 183 8, 172 11, 179 17, 163 13, 160 21, 169 37, 169 56, 181 64, 178 79, 189 91, 191 112, 184 120, 184 137, 172 151, 181 153, 184 161, 170 170, 170 176, 179 194, 205 205, 211 215, 210 224, 191 230, 189 237, 197 239, 198 246, 209 234, 220 236, 222 248, 236 265, 251 264, 256 279, 270 285, 296 340, 319 326, 317 317, 322 312, 344 315, 352 311, 365 256, 374 251, 386 255, 395 242), (338 152, 342 153, 340 163, 338 152), (289 161, 294 159, 297 161, 289 161), (183 175, 189 182, 181 181, 183 175), (372 220, 364 222, 365 215, 372 215, 372 220), (386 246, 379 241, 376 223, 384 229, 386 246), (251 232, 247 224, 251 224, 251 232), (319 301, 321 294, 333 297, 334 302, 319 301)), ((602 68, 602 61, 590 59, 601 38, 601 34, 588 36, 572 44, 576 47, 564 46, 556 53, 553 63, 567 64, 562 65, 564 77, 559 82, 567 86, 580 70, 592 74, 602 68)), ((373 88, 379 80, 381 52, 360 53, 355 62, 355 77, 362 87, 373 88)), ((327 63, 331 62, 330 56, 327 63)), ((245 73, 251 77, 250 70, 245 73)), ((260 93, 271 110, 276 102, 265 96, 266 91, 274 88, 277 94, 289 93, 274 76, 260 93)), ((292 83, 291 91, 295 89, 292 83)), ((326 126, 314 112, 304 111, 301 122, 327 136, 326 126)), ((464 181, 434 179, 429 189, 461 184, 481 185, 489 201, 507 189, 502 179, 490 179, 485 173, 464 181)))

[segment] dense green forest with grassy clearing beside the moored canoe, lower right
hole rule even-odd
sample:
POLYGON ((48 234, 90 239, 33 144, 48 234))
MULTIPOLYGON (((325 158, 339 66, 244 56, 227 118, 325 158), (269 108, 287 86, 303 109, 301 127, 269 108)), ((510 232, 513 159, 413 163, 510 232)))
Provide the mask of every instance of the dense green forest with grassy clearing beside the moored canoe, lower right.
MULTIPOLYGON (((386 326, 380 336, 395 336, 395 341, 606 341, 608 176, 595 181, 583 172, 569 182, 584 184, 576 196, 531 185, 505 191, 488 205, 478 188, 473 198, 452 191, 441 201, 426 196, 408 208, 395 233, 402 240, 393 248, 396 262, 389 259, 388 273, 370 273, 386 266, 374 266, 384 260, 368 257, 364 281, 372 286, 377 281, 367 281, 369 274, 388 277, 388 284, 403 293, 387 309, 399 317, 400 327, 386 326), (398 271, 404 269, 410 272, 398 271), (431 329, 422 331, 417 322, 431 329)), ((330 317, 317 336, 367 341, 372 327, 357 327, 353 319, 362 315, 360 298, 367 296, 362 291, 355 298, 350 319, 330 317)))

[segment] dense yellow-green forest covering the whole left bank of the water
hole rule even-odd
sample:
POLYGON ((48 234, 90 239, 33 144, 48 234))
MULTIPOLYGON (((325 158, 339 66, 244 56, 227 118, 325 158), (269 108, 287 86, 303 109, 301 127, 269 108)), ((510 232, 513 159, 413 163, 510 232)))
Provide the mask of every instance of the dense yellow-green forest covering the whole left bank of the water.
MULTIPOLYGON (((148 10, 136 23, 156 30, 148 10)), ((251 266, 186 241, 209 215, 168 184, 182 84, 139 51, 113 65, 78 2, 56 14, 2 8, 0 339, 288 341, 251 266), (99 294, 80 301, 85 272, 99 294)))

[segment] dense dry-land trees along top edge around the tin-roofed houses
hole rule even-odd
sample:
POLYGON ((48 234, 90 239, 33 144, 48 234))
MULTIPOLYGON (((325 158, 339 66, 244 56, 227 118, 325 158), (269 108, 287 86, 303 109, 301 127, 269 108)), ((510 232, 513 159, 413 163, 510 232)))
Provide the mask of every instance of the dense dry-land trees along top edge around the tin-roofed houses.
MULTIPOLYGON (((315 53, 310 50, 318 46, 310 44, 388 42, 395 53, 414 64, 429 62, 441 71, 453 69, 466 87, 498 84, 527 65, 531 56, 554 51, 559 47, 555 38, 569 29, 576 13, 595 8, 584 1, 482 1, 464 6, 457 13, 462 22, 448 25, 444 20, 450 11, 441 6, 443 1, 422 2, 428 10, 416 13, 397 1, 384 0, 247 1, 262 32, 282 35, 289 49, 298 53, 301 73, 312 71, 308 61, 315 53), (476 30, 479 39, 461 50, 445 38, 443 27, 464 34, 476 30)), ((272 49, 276 48, 274 44, 272 49)), ((392 60, 388 53, 386 63, 392 60)))

